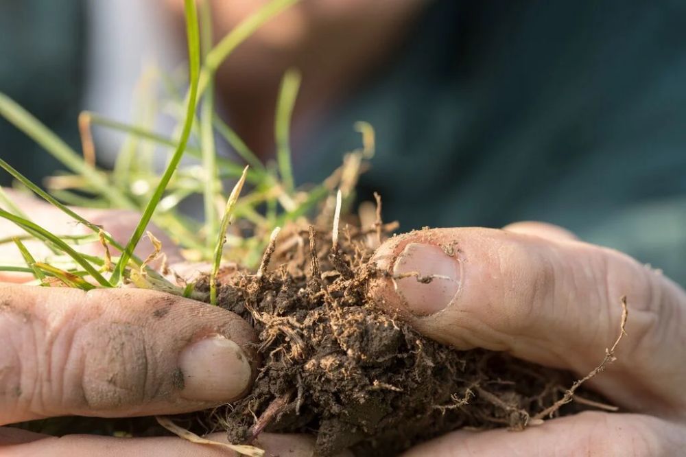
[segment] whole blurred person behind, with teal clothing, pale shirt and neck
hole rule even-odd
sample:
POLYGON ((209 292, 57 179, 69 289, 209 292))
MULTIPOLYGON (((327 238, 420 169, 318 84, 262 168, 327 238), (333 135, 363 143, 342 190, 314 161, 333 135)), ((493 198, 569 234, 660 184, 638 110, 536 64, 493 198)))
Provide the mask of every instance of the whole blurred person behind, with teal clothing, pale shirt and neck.
MULTIPOLYGON (((141 73, 182 69, 181 3, 1 1, 0 91, 78 150, 80 110, 134 122, 141 73)), ((214 1, 217 39, 262 3, 214 1)), ((403 231, 543 220, 686 284, 685 25, 676 0, 303 0, 224 64, 217 104, 270 160, 295 65, 299 183, 340 165, 368 121, 359 198, 379 191, 403 231)), ((120 142, 100 134, 101 165, 120 142)), ((0 156, 33 180, 59 169, 2 119, 0 156)))

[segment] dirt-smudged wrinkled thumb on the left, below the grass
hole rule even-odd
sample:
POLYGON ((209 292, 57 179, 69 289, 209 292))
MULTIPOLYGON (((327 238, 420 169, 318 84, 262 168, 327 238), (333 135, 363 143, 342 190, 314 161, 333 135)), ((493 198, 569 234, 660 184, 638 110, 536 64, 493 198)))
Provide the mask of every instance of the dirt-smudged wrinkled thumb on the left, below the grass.
POLYGON ((233 313, 136 289, 0 285, 0 424, 208 408, 252 379, 233 313))

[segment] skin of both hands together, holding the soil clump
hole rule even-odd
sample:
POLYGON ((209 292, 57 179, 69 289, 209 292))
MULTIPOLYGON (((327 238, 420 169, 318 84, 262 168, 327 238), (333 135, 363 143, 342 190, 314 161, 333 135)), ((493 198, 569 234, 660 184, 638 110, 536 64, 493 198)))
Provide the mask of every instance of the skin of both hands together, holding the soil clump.
MULTIPOLYGON (((23 207, 56 233, 75 230, 45 204, 23 207)), ((89 216, 122 239, 136 220, 131 215, 126 226, 120 212, 89 216)), ((0 222, 1 236, 14 233, 0 222)), ((3 255, 18 255, 9 249, 3 255)), ((442 275, 428 284, 381 279, 370 291, 429 338, 457 349, 508 351, 580 376, 615 340, 619 297, 628 300, 617 361, 589 382, 626 412, 584 412, 524 432, 458 431, 407 455, 672 456, 686 446, 686 294, 659 272, 534 222, 401 235, 383 244, 374 261, 394 272, 442 275)), ((185 412, 230 401, 250 386, 254 336, 230 312, 145 290, 85 294, 20 285, 27 278, 16 275, 3 281, 10 279, 0 285, 3 424, 67 414, 185 412), (208 347, 211 360, 226 358, 224 368, 203 364, 198 351, 208 347)), ((211 438, 222 441, 224 434, 211 438)), ((307 456, 313 441, 265 434, 259 444, 274 455, 307 456)), ((226 455, 179 438, 56 438, 12 427, 0 429, 0 450, 7 456, 226 455)))

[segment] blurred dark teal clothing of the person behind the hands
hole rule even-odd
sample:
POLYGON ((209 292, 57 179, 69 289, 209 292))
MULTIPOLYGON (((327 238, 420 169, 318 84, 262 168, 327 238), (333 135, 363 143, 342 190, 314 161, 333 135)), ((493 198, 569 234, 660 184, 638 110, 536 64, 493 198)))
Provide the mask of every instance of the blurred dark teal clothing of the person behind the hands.
MULTIPOLYGON (((75 148, 94 84, 86 7, 0 2, 0 91, 75 148)), ((362 119, 377 156, 359 196, 379 191, 403 230, 543 220, 686 284, 684 24, 680 1, 427 1, 388 60, 296 137, 296 177, 329 174, 362 119)), ((58 169, 3 120, 0 145, 34 180, 58 169)))

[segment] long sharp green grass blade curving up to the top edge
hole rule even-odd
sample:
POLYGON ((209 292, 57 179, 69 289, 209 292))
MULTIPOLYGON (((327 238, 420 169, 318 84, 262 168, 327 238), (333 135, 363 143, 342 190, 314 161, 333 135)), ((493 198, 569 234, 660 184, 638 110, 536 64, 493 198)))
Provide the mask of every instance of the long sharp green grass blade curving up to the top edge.
POLYGON ((115 272, 112 276, 112 281, 118 283, 121 276, 123 276, 123 270, 126 268, 128 260, 133 254, 138 242, 140 241, 147 224, 150 223, 152 219, 152 213, 154 213, 157 204, 162 199, 167 184, 171 179, 171 175, 176 171, 176 167, 183 156, 183 152, 186 148, 186 143, 188 142, 189 135, 191 133, 191 127, 193 125, 193 113, 196 109, 196 97, 198 95, 198 73, 200 71, 200 32, 198 31, 198 13, 196 12, 196 3, 193 0, 185 0, 185 16, 186 16, 186 29, 187 29, 187 39, 188 39, 188 54, 189 54, 189 73, 191 89, 189 93, 189 102, 186 113, 186 121, 183 126, 181 133, 181 138, 174 151, 174 155, 171 156, 171 161, 169 161, 169 166, 165 170, 159 185, 152 194, 150 202, 148 202, 145 211, 143 212, 143 217, 141 218, 136 230, 134 231, 131 239, 129 240, 126 248, 121 253, 121 258, 115 272))

